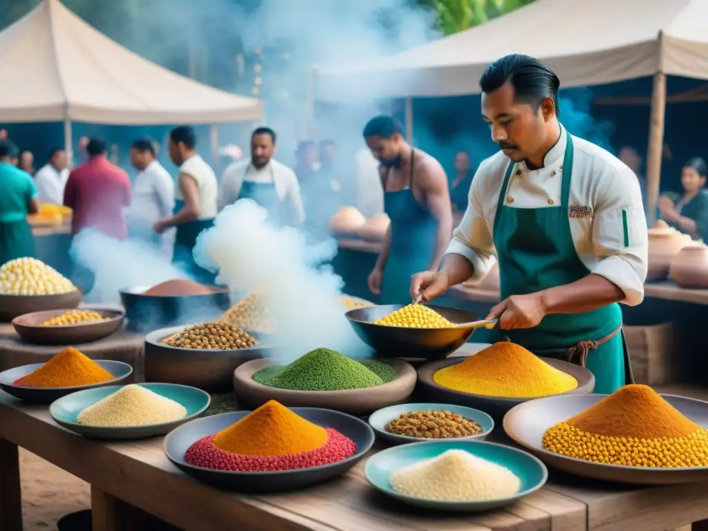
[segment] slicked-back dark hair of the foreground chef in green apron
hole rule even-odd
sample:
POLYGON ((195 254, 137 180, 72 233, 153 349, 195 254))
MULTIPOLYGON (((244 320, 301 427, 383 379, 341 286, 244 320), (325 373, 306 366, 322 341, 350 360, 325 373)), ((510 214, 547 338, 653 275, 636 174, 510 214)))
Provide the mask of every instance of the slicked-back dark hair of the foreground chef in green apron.
POLYGON ((544 99, 551 98, 556 108, 556 116, 561 114, 558 108, 558 89, 561 81, 539 59, 524 54, 505 55, 496 59, 486 67, 479 78, 479 89, 490 93, 507 81, 514 88, 516 101, 528 103, 538 112, 544 99))

